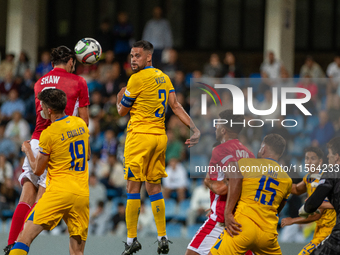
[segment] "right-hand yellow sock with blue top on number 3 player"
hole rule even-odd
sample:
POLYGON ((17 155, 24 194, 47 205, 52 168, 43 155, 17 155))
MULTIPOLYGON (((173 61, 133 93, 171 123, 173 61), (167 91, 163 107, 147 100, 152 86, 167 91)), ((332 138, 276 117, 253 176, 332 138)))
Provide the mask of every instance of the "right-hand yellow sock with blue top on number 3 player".
POLYGON ((165 203, 162 192, 150 196, 153 217, 157 227, 158 236, 166 235, 165 203))

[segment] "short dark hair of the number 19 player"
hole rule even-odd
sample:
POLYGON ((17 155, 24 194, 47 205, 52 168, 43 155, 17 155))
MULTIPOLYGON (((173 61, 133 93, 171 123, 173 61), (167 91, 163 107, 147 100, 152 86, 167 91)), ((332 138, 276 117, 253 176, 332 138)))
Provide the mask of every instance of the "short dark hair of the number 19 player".
POLYGON ((66 108, 67 97, 60 89, 45 89, 38 94, 38 99, 55 113, 63 113, 66 108))

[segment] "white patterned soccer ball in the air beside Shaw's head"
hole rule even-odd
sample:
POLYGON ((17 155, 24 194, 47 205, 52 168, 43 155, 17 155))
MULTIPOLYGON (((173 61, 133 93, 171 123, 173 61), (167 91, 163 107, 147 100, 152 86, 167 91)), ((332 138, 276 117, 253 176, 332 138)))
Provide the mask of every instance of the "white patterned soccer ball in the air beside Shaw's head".
POLYGON ((83 38, 74 47, 76 58, 80 63, 92 65, 96 63, 102 55, 102 47, 93 38, 83 38))

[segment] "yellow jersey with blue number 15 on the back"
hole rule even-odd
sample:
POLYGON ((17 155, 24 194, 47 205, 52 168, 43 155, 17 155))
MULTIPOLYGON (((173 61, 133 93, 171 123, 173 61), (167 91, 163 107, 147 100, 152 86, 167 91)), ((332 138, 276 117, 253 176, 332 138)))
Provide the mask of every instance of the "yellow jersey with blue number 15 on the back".
POLYGON ((292 179, 272 159, 242 158, 238 165, 243 183, 236 213, 252 219, 262 231, 277 234, 277 209, 288 199, 292 179))

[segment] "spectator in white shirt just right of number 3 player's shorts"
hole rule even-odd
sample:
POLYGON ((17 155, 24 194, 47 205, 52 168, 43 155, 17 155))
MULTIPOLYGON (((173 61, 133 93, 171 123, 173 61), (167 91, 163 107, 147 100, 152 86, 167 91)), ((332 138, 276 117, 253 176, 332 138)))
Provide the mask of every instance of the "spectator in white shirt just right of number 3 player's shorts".
POLYGON ((177 194, 177 201, 181 202, 185 199, 185 192, 188 185, 188 174, 186 169, 177 158, 170 158, 165 171, 168 174, 168 177, 163 179, 164 198, 170 198, 171 193, 174 191, 177 194))

